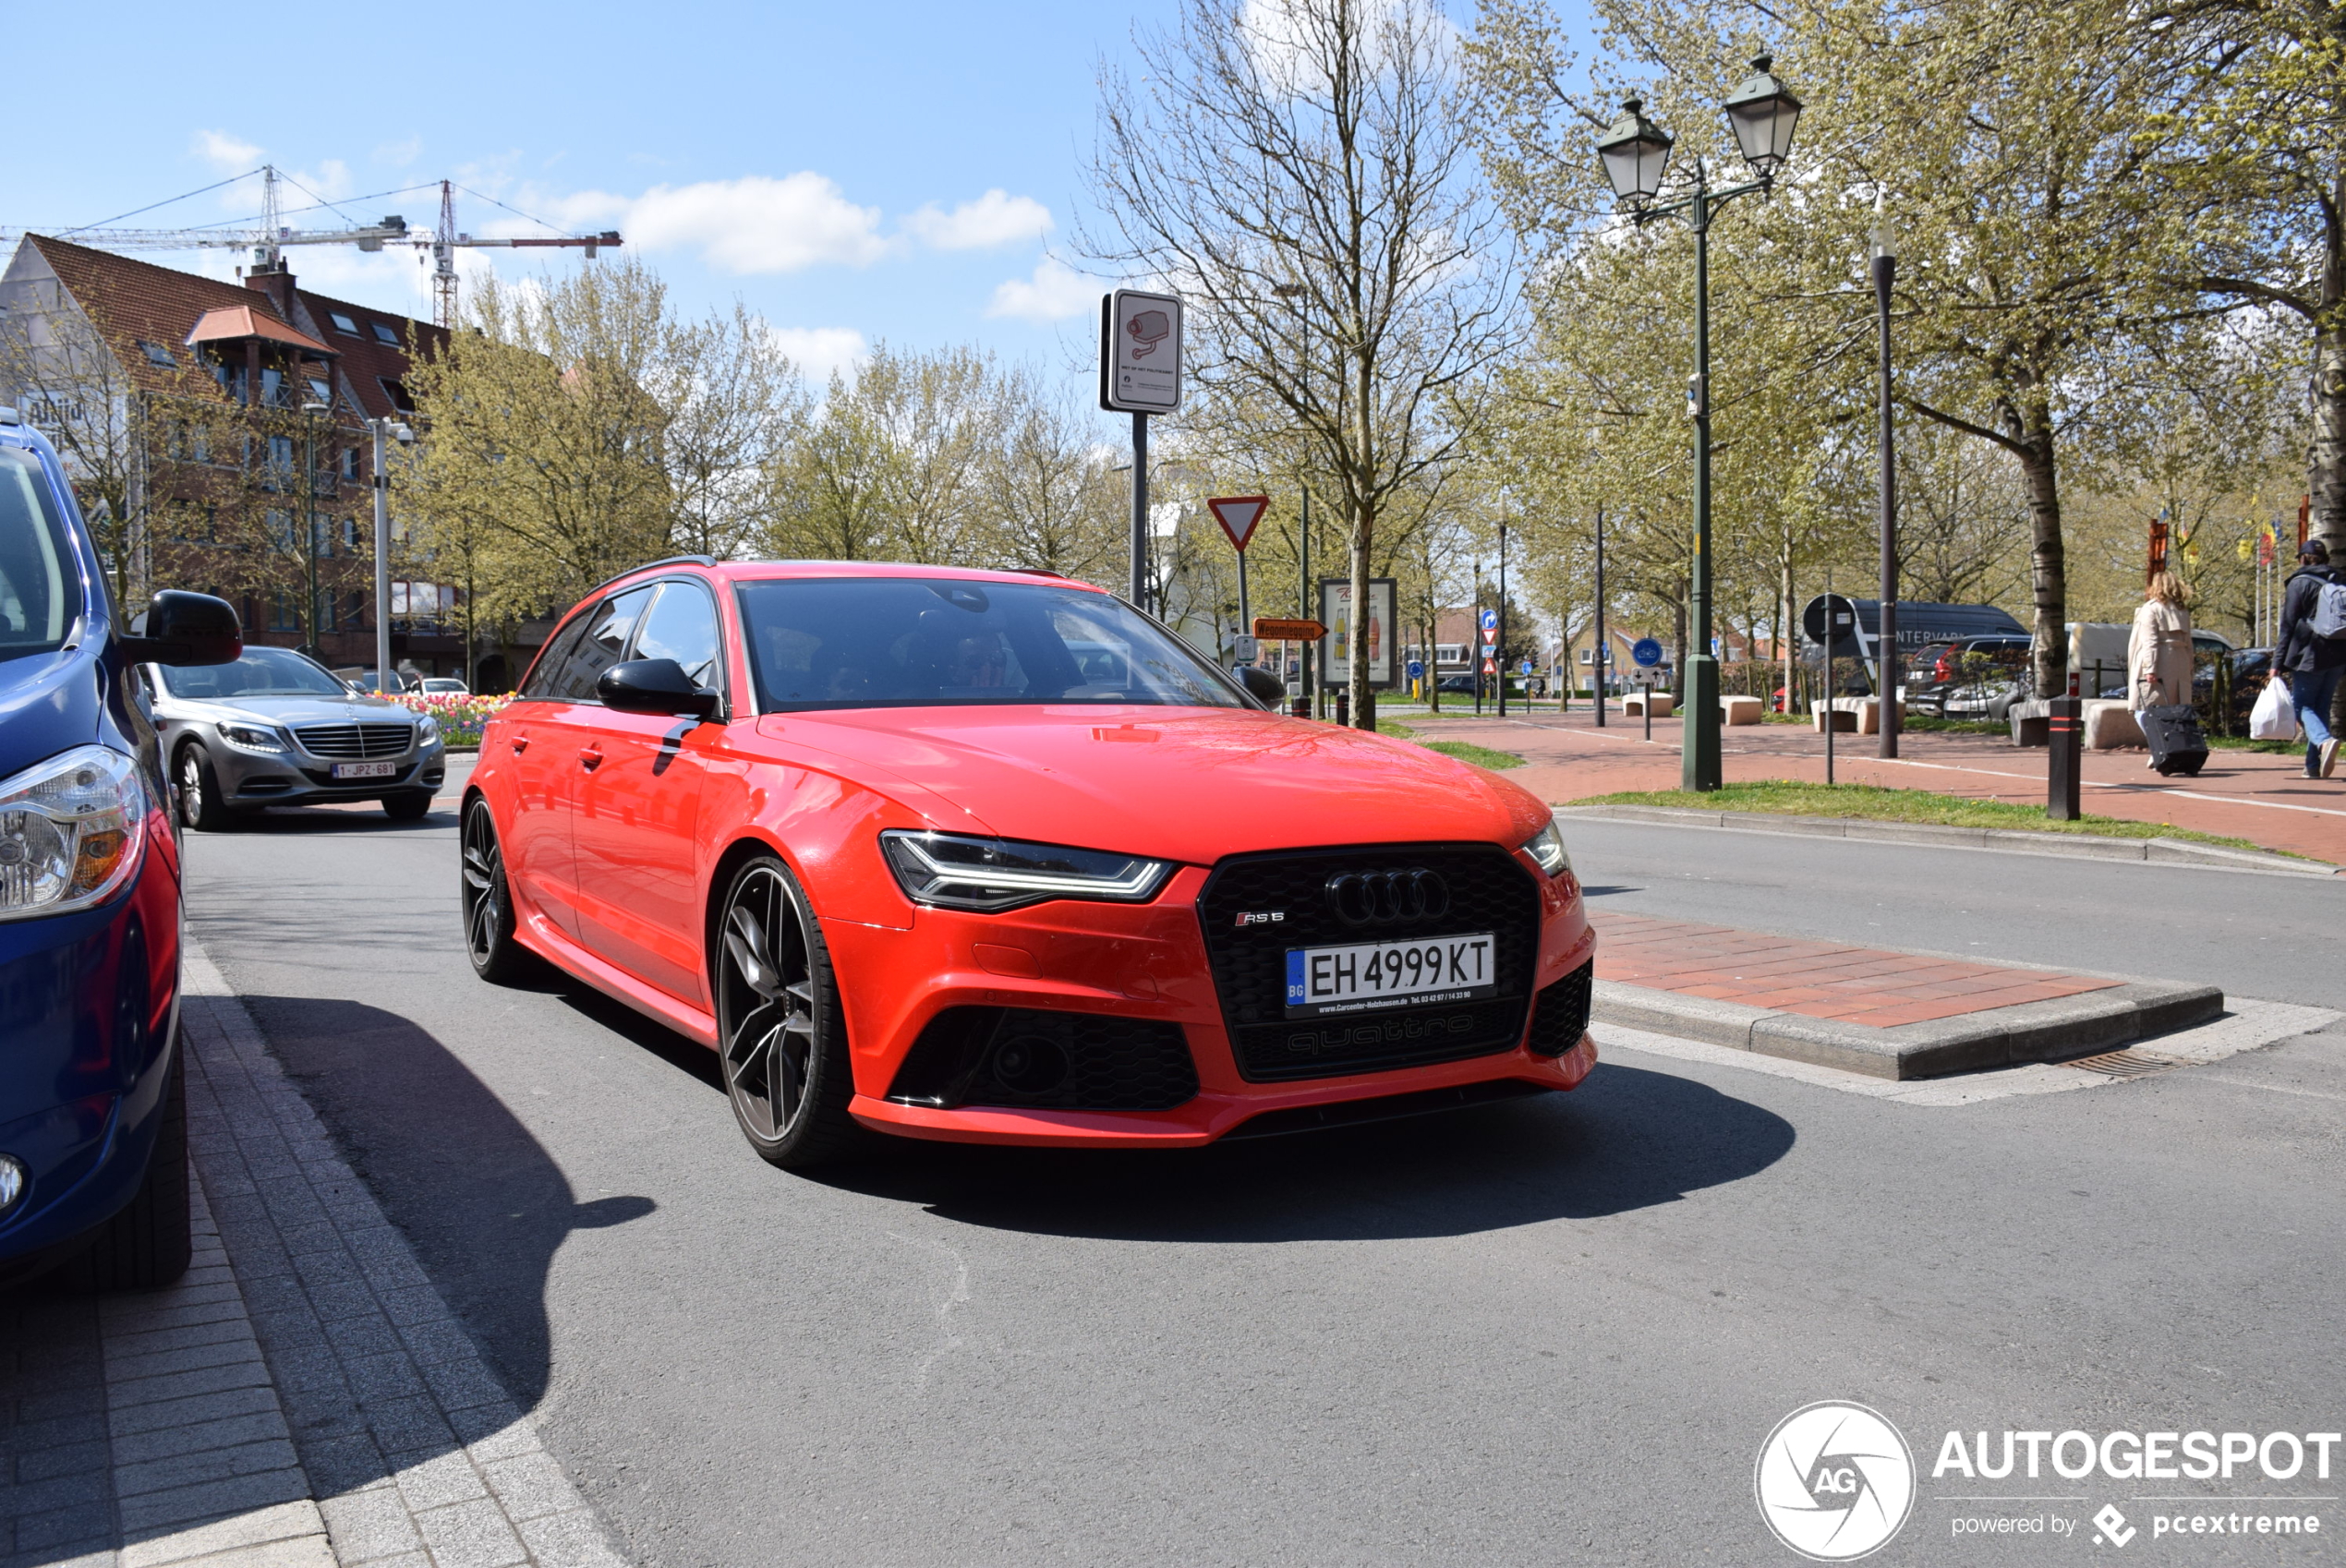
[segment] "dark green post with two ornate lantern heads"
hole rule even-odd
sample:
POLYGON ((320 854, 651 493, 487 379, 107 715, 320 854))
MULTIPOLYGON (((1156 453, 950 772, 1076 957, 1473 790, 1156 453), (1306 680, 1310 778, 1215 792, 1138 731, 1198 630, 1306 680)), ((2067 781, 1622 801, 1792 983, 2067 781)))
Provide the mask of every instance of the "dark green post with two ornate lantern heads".
POLYGON ((1694 162, 1694 192, 1656 206, 1661 176, 1670 164, 1670 136, 1645 117, 1645 103, 1628 98, 1621 120, 1598 138, 1598 157, 1630 223, 1684 213, 1694 230, 1694 375, 1687 377, 1687 417, 1694 420, 1694 572, 1689 586, 1691 647, 1682 689, 1687 694, 1682 788, 1720 788, 1720 663, 1710 652, 1710 220, 1722 206, 1752 190, 1774 190, 1776 171, 1792 155, 1799 98, 1769 70, 1774 59, 1752 61, 1752 75, 1727 103, 1743 162, 1757 178, 1724 190, 1710 188, 1703 162, 1694 162))

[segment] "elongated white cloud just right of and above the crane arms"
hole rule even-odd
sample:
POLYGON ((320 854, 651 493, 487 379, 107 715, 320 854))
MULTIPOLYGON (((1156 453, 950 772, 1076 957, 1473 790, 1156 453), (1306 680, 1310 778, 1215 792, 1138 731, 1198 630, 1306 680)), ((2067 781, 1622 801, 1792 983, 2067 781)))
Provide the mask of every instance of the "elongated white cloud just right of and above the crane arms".
POLYGON ((856 206, 812 171, 786 178, 655 185, 633 202, 589 192, 565 206, 619 218, 631 246, 697 248, 725 272, 798 272, 821 263, 866 267, 887 255, 880 209, 856 206))

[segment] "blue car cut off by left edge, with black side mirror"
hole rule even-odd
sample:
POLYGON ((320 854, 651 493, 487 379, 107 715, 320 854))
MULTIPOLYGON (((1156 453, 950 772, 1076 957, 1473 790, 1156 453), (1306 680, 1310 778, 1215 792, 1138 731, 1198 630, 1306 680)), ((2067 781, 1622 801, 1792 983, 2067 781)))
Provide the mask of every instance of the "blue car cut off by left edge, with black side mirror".
POLYGON ((56 452, 0 408, 0 1284, 188 1270, 181 855, 134 663, 225 663, 237 612, 134 635, 56 452))

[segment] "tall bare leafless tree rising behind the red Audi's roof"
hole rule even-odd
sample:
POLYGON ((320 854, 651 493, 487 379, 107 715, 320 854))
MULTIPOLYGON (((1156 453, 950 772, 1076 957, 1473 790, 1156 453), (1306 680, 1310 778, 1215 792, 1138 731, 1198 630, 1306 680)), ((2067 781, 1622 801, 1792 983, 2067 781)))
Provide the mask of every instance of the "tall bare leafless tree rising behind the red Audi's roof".
MULTIPOLYGON (((1471 438, 1464 394, 1511 326, 1450 38, 1431 0, 1185 0, 1138 82, 1100 82, 1086 251, 1194 305, 1189 375, 1290 431, 1356 605, 1389 502, 1471 438)), ((1365 638, 1349 682, 1375 727, 1365 638)))

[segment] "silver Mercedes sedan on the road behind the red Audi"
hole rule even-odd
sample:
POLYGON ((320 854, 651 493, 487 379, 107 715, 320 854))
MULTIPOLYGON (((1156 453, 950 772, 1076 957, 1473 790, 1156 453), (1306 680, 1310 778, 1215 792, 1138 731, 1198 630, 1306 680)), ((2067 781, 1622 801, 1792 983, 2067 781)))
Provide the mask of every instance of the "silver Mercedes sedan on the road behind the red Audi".
POLYGON ((392 820, 432 811, 448 771, 439 722, 366 696, 293 649, 235 663, 138 666, 171 764, 178 820, 218 832, 267 806, 380 799, 392 820))

